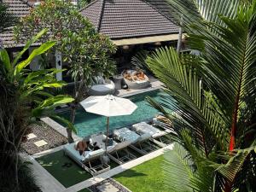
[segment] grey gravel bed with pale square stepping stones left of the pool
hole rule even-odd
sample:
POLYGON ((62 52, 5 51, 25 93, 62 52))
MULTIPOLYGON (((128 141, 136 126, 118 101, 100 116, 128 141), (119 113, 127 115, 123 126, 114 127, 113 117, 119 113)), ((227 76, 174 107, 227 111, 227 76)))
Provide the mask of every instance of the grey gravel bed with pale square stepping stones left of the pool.
POLYGON ((31 130, 37 137, 21 144, 21 148, 23 148, 27 154, 37 154, 49 148, 55 148, 67 143, 66 137, 63 137, 60 133, 49 127, 49 125, 44 124, 44 122, 40 123, 40 125, 31 125, 31 130), (44 140, 47 144, 38 147, 35 142, 40 140, 44 140))

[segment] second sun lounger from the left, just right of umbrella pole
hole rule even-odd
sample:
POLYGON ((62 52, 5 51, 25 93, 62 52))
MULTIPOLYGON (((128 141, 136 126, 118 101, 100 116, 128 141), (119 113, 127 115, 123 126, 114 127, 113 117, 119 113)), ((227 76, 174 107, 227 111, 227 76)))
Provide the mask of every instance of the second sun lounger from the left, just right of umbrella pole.
POLYGON ((111 160, 115 161, 119 165, 122 165, 130 160, 135 160, 136 156, 127 150, 129 145, 131 145, 130 141, 117 143, 115 146, 113 146, 113 148, 109 148, 107 150, 108 156, 111 160))

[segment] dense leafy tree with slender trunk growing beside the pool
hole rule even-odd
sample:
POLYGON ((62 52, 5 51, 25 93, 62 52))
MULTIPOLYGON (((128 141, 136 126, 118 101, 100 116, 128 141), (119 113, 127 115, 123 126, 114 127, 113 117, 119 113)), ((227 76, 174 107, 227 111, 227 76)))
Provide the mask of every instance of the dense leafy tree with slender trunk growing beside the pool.
MULTIPOLYGON (((74 122, 75 110, 93 77, 101 73, 108 78, 115 72, 114 62, 110 58, 115 52, 115 46, 108 37, 96 32, 90 21, 73 4, 65 1, 42 2, 15 27, 15 35, 17 40, 24 41, 43 28, 49 29, 43 37, 44 41, 57 41, 55 49, 61 52, 63 61, 67 61, 68 73, 75 83, 75 100, 71 105, 71 121, 74 122)), ((72 143, 72 132, 67 130, 67 134, 72 143)))

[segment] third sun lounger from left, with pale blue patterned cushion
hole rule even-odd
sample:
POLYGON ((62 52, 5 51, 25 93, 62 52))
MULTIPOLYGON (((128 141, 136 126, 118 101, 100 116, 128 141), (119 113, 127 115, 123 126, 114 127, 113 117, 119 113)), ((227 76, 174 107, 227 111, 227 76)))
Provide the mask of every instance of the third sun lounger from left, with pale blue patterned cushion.
POLYGON ((150 143, 149 141, 149 138, 151 137, 150 134, 145 133, 138 135, 135 131, 131 131, 126 127, 113 131, 113 137, 121 142, 131 142, 130 147, 140 154, 148 154, 157 149, 153 143, 150 143))

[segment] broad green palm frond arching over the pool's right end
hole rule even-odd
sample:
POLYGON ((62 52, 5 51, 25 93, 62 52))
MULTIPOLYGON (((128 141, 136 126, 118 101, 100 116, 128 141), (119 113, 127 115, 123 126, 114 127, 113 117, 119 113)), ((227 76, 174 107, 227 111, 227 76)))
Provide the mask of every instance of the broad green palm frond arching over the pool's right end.
POLYGON ((213 97, 205 96, 201 78, 191 63, 194 64, 193 59, 180 59, 172 48, 157 49, 148 56, 148 67, 166 84, 165 91, 169 95, 163 96, 160 102, 150 98, 148 102, 166 117, 171 118, 171 112, 182 117, 202 149, 206 148, 205 129, 212 131, 219 145, 225 146, 228 131, 224 128, 224 116, 213 97))

